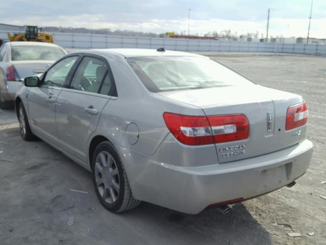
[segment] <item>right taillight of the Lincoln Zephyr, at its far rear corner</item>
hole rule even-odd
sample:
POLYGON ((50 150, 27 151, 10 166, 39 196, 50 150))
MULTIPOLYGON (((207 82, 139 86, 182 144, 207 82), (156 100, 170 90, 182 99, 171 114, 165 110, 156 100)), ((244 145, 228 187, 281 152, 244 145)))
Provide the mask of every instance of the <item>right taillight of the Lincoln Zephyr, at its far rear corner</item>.
POLYGON ((307 124, 308 108, 306 103, 290 106, 286 112, 285 130, 294 129, 307 124))

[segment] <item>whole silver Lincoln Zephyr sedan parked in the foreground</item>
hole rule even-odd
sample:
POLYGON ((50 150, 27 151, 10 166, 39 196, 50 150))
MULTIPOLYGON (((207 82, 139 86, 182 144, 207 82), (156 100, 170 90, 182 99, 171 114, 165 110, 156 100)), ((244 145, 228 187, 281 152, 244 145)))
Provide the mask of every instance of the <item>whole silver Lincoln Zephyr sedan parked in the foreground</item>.
POLYGON ((254 84, 207 57, 74 52, 15 99, 24 140, 92 172, 112 212, 146 201, 184 213, 291 186, 310 164, 302 96, 254 84))

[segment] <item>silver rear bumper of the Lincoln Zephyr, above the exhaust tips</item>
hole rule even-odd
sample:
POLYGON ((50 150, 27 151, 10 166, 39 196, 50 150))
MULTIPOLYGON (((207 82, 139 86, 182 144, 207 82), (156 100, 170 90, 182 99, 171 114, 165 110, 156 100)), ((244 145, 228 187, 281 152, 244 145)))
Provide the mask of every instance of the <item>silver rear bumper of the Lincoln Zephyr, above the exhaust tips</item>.
POLYGON ((136 199, 196 214, 210 204, 250 199, 291 183, 307 171, 313 144, 306 139, 263 156, 198 167, 169 165, 117 149, 136 199))

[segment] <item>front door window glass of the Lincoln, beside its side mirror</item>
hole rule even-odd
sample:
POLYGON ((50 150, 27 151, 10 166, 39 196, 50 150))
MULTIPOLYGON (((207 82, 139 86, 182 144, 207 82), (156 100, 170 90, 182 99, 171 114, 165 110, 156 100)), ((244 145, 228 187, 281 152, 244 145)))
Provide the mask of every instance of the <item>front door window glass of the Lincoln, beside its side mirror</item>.
POLYGON ((63 59, 46 72, 42 85, 62 87, 66 83, 69 71, 78 56, 70 56, 63 59))

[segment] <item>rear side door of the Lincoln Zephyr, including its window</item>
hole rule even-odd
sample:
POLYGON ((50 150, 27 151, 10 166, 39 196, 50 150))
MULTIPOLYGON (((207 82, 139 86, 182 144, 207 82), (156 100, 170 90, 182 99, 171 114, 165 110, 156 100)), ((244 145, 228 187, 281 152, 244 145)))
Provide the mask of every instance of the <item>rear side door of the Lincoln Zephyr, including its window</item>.
POLYGON ((84 56, 69 88, 57 99, 56 118, 60 147, 87 162, 87 141, 97 127, 100 113, 114 91, 113 76, 105 59, 84 56))

